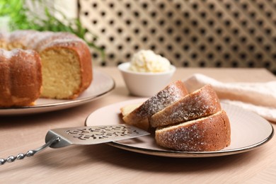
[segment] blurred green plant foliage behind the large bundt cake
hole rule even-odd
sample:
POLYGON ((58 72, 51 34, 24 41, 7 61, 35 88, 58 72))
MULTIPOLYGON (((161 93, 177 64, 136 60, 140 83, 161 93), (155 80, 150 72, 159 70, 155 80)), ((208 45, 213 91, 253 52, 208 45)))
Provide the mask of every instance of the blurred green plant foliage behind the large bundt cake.
POLYGON ((100 52, 102 57, 105 57, 103 48, 98 47, 94 42, 98 37, 84 28, 79 18, 69 19, 62 11, 54 8, 54 6, 46 6, 42 0, 28 1, 28 4, 44 8, 45 16, 32 11, 26 6, 25 0, 0 1, 0 16, 9 16, 11 18, 11 30, 50 30, 54 32, 64 31, 74 33, 86 41, 91 48, 100 52), (58 13, 62 17, 62 20, 56 18, 54 13, 58 13), (89 35, 93 39, 87 40, 86 35, 89 35))

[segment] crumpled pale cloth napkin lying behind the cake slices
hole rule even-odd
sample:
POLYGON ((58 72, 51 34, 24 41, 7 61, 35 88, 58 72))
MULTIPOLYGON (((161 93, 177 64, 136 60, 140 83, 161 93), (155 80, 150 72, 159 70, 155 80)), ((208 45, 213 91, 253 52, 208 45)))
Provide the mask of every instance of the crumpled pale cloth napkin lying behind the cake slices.
POLYGON ((183 79, 188 91, 192 92, 212 85, 217 96, 224 103, 238 105, 246 110, 276 122, 276 81, 265 83, 222 83, 202 74, 193 74, 183 79))

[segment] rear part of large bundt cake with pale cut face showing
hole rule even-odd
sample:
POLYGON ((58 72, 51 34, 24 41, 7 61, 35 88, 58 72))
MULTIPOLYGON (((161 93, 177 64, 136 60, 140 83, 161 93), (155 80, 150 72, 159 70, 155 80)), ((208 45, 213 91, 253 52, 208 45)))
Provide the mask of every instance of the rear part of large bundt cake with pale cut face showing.
MULTIPOLYGON (((38 57, 42 62, 42 93, 40 97, 73 99, 78 97, 91 84, 93 74, 89 47, 84 40, 74 34, 35 30, 0 33, 0 47, 4 50, 21 48, 22 50, 17 52, 33 50, 38 53, 38 57)), ((13 55, 15 52, 10 53, 9 55, 13 55)), ((5 54, 1 54, 0 58, 9 60, 9 58, 16 57, 6 57, 5 54)), ((31 58, 27 57, 26 59, 30 60, 31 58)), ((21 60, 23 66, 25 59, 21 60)), ((0 62, 2 62, 2 59, 0 62)), ((8 70, 4 67, 0 69, 8 70)), ((14 80, 21 80, 19 76, 13 77, 14 80)), ((14 85, 16 84, 5 81, 3 85, 6 85, 5 88, 15 88, 14 85)), ((2 87, 2 83, 0 85, 2 87)), ((13 105, 21 106, 19 103, 13 105)), ((4 105, 0 103, 0 106, 4 105)))

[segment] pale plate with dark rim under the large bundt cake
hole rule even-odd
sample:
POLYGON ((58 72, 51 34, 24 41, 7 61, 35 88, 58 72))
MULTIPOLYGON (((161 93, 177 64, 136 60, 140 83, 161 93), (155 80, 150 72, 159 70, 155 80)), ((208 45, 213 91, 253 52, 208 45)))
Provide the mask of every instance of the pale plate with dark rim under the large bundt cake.
POLYGON ((55 100, 47 98, 38 98, 35 105, 22 108, 0 108, 0 115, 24 115, 33 113, 45 113, 53 110, 62 110, 76 105, 96 100, 115 88, 115 82, 112 77, 100 71, 93 70, 93 81, 91 85, 74 100, 55 100))

